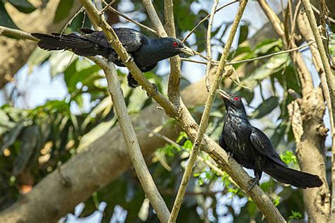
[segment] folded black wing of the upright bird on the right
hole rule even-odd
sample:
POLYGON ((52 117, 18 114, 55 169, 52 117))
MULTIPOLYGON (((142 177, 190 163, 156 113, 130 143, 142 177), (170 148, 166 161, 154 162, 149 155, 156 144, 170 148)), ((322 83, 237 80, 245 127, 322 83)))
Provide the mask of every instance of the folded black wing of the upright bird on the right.
POLYGON ((283 160, 281 160, 281 157, 279 157, 277 152, 274 150, 269 138, 258 128, 252 128, 250 142, 261 155, 268 157, 277 164, 287 167, 283 160))

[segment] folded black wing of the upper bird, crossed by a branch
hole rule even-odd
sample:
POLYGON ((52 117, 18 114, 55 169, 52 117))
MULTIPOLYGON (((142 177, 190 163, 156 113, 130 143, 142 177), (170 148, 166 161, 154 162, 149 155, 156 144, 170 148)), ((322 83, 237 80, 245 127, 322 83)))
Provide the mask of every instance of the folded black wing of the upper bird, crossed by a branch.
MULTIPOLYGON (((82 28, 80 31, 85 34, 83 35, 84 38, 87 38, 102 47, 110 48, 110 43, 107 41, 105 34, 102 31, 94 31, 87 28, 82 28)), ((146 36, 131 28, 114 28, 114 31, 127 52, 135 52, 141 48, 143 42, 147 41, 146 36)))

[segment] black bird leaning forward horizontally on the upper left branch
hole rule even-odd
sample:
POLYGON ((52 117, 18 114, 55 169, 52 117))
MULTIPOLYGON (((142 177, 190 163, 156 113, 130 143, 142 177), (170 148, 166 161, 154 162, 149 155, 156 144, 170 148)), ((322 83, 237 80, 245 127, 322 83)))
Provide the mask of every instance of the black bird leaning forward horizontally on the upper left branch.
MULTIPOLYGON (((42 49, 69 49, 79 56, 100 55, 117 66, 124 66, 102 31, 88 28, 81 28, 79 31, 80 33, 74 32, 67 35, 59 33, 52 33, 52 35, 32 33, 31 35, 40 40, 38 46, 42 49)), ((192 49, 172 37, 151 39, 131 28, 114 28, 114 31, 142 72, 151 71, 155 68, 158 61, 178 54, 194 55, 192 49)), ((129 73, 127 79, 130 87, 135 88, 138 86, 131 73, 129 73)))

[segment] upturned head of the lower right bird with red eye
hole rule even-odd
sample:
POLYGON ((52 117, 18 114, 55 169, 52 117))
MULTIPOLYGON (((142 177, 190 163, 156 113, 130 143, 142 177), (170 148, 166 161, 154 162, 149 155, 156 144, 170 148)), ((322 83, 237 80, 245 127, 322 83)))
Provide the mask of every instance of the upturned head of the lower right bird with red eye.
POLYGON ((231 95, 223 90, 218 90, 218 94, 221 95, 225 102, 225 109, 228 114, 239 116, 240 118, 247 119, 247 113, 245 112, 245 106, 241 100, 241 97, 231 95))

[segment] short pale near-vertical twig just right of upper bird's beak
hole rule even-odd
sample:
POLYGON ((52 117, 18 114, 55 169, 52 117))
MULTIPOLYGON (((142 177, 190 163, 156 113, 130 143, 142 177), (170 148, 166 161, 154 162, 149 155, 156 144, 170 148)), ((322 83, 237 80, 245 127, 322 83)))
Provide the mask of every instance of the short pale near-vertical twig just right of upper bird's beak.
POLYGON ((208 27, 207 27, 207 36, 206 36, 206 56, 207 56, 207 64, 206 64, 206 74, 205 74, 205 83, 207 91, 209 92, 209 88, 211 88, 211 83, 209 82, 209 71, 211 71, 211 60, 212 60, 212 50, 211 50, 211 33, 212 33, 212 23, 214 19, 214 13, 216 12, 216 7, 218 6, 218 0, 214 1, 211 16, 209 16, 208 27))

